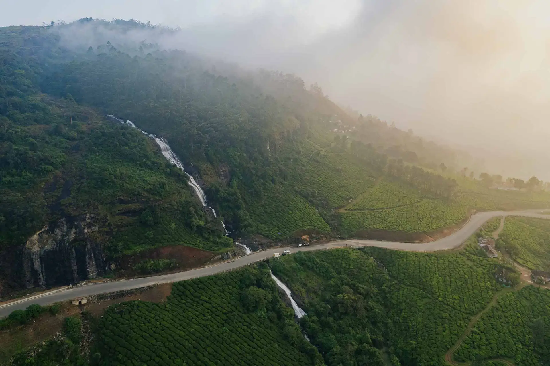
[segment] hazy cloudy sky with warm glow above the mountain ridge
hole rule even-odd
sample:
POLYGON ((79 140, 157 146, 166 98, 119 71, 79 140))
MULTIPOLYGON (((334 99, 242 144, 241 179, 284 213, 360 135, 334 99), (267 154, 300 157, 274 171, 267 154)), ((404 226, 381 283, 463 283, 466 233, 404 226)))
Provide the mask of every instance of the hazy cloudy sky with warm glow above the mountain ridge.
MULTIPOLYGON (((317 81, 420 135, 509 154, 550 180, 548 0, 0 0, 0 26, 92 18, 180 26, 192 51, 317 81), (444 136, 444 137, 442 137, 444 136)), ((530 173, 532 171, 532 173, 530 173)))

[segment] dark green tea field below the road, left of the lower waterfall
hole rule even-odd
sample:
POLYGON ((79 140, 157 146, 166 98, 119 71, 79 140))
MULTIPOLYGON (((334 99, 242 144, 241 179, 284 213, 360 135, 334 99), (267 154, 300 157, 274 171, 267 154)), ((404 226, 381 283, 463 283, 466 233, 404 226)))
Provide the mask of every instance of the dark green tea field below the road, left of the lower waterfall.
POLYGON ((266 267, 178 282, 163 304, 109 307, 98 324, 101 364, 322 364, 266 267))

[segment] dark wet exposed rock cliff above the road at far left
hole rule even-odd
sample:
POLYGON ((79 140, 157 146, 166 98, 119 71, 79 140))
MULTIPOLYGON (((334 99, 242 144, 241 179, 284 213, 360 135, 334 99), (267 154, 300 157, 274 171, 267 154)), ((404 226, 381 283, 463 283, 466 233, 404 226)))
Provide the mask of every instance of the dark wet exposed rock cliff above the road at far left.
POLYGON ((63 218, 31 236, 23 247, 24 286, 51 287, 96 278, 105 270, 101 244, 90 237, 92 215, 63 218))

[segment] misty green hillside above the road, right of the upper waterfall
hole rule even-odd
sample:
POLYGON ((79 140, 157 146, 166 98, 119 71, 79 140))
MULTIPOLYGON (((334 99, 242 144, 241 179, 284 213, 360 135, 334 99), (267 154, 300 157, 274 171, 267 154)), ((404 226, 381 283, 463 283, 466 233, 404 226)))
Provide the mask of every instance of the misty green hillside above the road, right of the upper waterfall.
MULTIPOLYGON (((142 27, 122 21, 85 23, 120 31, 142 27)), ((64 123, 72 114, 82 122, 76 110, 92 113, 94 108, 96 115, 130 119, 166 137, 180 159, 205 177, 213 207, 234 233, 276 239, 303 228, 344 235, 363 229, 431 231, 456 224, 475 209, 550 202, 542 193, 496 192, 463 179, 457 184, 453 176, 411 166, 400 156, 333 132, 337 121, 362 126, 361 133, 368 126, 378 135, 384 130, 371 120, 349 117, 293 75, 236 70, 146 42, 134 43, 135 48, 115 40, 61 47, 64 31, 78 26, 3 29, 3 85, 14 88, 4 97, 53 97, 67 104, 59 112, 64 123), (29 42, 38 46, 26 47, 29 42), (222 176, 220 167, 227 167, 227 174, 222 176), (263 202, 279 202, 284 209, 260 209, 271 206, 263 202), (345 213, 337 214, 342 207, 345 213)), ((12 124, 54 123, 47 114, 22 121, 34 113, 27 111, 28 103, 5 106, 2 115, 12 124)), ((5 124, 7 131, 12 124, 5 124)), ((387 134, 393 136, 390 130, 387 134)), ((396 141, 405 143, 401 137, 396 141)))

